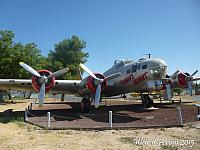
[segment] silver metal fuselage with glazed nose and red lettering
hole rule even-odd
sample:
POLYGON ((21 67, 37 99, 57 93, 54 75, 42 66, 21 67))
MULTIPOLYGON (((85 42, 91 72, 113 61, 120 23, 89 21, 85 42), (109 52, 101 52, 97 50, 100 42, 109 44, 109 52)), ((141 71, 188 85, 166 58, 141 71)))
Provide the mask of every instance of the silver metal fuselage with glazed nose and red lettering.
POLYGON ((120 60, 104 75, 121 72, 118 78, 108 82, 104 96, 115 96, 130 92, 146 92, 162 89, 162 79, 166 76, 167 64, 158 58, 142 58, 137 62, 120 60))

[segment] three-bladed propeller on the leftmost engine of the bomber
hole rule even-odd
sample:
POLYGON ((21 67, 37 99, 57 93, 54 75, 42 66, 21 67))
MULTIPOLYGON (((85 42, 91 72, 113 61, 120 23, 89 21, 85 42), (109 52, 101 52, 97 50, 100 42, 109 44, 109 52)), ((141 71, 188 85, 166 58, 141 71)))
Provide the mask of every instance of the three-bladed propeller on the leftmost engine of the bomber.
POLYGON ((64 68, 64 69, 58 70, 58 71, 50 74, 48 77, 46 77, 46 76, 41 76, 36 70, 34 70, 32 67, 28 66, 24 62, 20 62, 19 65, 22 66, 26 71, 30 72, 32 75, 39 77, 39 82, 42 84, 40 87, 39 95, 38 95, 39 106, 43 105, 44 97, 45 97, 45 83, 48 81, 48 79, 56 78, 58 76, 63 75, 67 71, 69 71, 69 68, 64 68))

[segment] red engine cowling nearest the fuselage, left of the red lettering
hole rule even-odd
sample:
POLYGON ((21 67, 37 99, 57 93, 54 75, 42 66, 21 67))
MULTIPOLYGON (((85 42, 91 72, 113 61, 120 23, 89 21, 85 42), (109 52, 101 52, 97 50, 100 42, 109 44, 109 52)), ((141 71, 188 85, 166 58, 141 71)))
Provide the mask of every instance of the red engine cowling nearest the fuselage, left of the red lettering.
MULTIPOLYGON (((97 78, 104 79, 105 76, 100 73, 94 73, 97 78)), ((87 78, 86 88, 90 90, 90 92, 95 93, 97 88, 98 81, 96 81, 93 77, 89 76, 87 78)), ((101 90, 104 90, 108 85, 108 81, 104 81, 101 83, 101 90)))

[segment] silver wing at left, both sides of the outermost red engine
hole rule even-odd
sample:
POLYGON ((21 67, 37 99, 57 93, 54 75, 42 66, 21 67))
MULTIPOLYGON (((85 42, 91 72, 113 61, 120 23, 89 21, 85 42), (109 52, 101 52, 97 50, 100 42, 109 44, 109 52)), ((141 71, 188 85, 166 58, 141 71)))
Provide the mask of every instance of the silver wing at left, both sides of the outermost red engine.
MULTIPOLYGON (((81 80, 55 80, 52 93, 67 93, 78 95, 81 80)), ((0 90, 35 91, 32 80, 28 79, 0 79, 0 90)))

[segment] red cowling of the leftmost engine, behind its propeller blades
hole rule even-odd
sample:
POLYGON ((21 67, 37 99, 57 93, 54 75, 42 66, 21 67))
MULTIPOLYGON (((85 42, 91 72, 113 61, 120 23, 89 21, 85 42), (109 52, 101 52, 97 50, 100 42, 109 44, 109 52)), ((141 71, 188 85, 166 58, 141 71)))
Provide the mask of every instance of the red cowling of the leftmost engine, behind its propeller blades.
MULTIPOLYGON (((38 73, 41 75, 41 76, 46 76, 48 77, 50 74, 52 74, 50 71, 48 70, 39 70, 38 73)), ((40 87, 41 87, 41 82, 40 82, 40 78, 37 77, 37 76, 33 76, 32 77, 32 87, 37 91, 39 92, 40 91, 40 87)), ((55 78, 51 78, 51 79, 48 79, 48 81, 45 83, 45 91, 46 92, 49 92, 53 86, 55 85, 55 78)))

